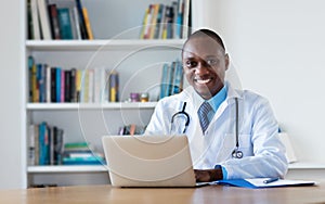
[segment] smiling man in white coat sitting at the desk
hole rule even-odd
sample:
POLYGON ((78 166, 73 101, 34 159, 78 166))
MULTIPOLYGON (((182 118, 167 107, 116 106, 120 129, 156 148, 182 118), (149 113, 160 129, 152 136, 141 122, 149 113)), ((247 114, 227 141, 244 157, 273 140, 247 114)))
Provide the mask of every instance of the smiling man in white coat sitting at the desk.
POLYGON ((191 86, 158 102, 145 133, 185 133, 197 181, 284 177, 285 148, 271 106, 225 81, 230 59, 222 39, 209 29, 195 31, 182 63, 191 86))

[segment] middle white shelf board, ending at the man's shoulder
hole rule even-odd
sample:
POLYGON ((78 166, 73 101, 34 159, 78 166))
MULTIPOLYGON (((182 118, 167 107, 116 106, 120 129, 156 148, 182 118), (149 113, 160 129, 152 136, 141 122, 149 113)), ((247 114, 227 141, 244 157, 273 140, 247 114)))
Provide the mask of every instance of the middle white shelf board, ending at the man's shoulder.
POLYGON ((154 109, 157 102, 132 102, 132 103, 28 103, 27 110, 139 110, 154 109))

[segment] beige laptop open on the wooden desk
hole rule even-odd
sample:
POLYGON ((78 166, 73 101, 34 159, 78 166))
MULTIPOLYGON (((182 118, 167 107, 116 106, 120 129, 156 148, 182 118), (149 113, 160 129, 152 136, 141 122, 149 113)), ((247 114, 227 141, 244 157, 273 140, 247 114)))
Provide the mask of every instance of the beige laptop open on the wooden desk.
POLYGON ((187 137, 103 136, 114 187, 198 187, 187 137))

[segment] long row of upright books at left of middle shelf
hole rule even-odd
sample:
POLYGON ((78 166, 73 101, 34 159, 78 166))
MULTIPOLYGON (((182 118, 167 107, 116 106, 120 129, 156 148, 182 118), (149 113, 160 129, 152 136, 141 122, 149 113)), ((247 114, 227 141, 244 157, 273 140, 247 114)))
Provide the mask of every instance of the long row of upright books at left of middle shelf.
POLYGON ((84 71, 75 67, 65 68, 36 63, 34 58, 29 56, 28 72, 29 102, 100 103, 119 100, 118 73, 114 72, 109 75, 105 67, 84 71), (108 75, 110 78, 106 84, 108 75), (110 100, 108 94, 112 94, 110 100))

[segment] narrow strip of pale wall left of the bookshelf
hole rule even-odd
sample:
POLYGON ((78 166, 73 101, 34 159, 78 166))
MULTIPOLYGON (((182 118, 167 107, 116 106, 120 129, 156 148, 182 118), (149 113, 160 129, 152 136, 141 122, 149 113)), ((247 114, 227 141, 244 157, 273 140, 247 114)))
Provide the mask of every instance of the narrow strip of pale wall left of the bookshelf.
POLYGON ((24 186, 22 160, 21 0, 6 1, 0 14, 0 189, 24 186))

